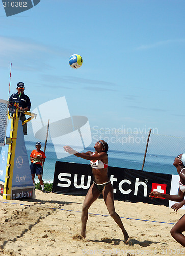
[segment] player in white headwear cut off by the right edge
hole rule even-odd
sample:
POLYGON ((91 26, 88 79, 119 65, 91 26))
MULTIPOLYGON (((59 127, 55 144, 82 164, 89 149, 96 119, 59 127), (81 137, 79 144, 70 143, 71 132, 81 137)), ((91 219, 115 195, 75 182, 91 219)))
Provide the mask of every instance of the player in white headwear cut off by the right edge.
MULTIPOLYGON (((171 206, 174 211, 177 211, 185 204, 185 154, 180 154, 179 156, 177 156, 174 160, 173 165, 177 168, 177 172, 179 174, 178 195, 169 195, 157 191, 152 191, 149 197, 163 197, 172 201, 177 201, 179 203, 175 203, 171 206)), ((185 215, 180 218, 180 220, 170 231, 172 237, 185 247, 185 236, 182 234, 183 231, 185 231, 185 215)))

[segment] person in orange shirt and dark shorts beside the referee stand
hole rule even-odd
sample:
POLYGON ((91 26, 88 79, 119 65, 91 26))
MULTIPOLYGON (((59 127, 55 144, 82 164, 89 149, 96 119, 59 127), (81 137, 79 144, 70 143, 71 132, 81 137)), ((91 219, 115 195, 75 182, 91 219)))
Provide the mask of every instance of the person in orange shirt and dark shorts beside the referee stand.
POLYGON ((38 141, 35 145, 36 150, 33 150, 30 154, 30 169, 32 174, 32 180, 34 184, 35 189, 35 174, 38 176, 38 179, 40 181, 40 185, 42 187, 42 192, 47 193, 47 191, 44 189, 44 182, 42 180, 42 162, 45 162, 45 154, 41 149, 42 144, 40 141, 38 141))

